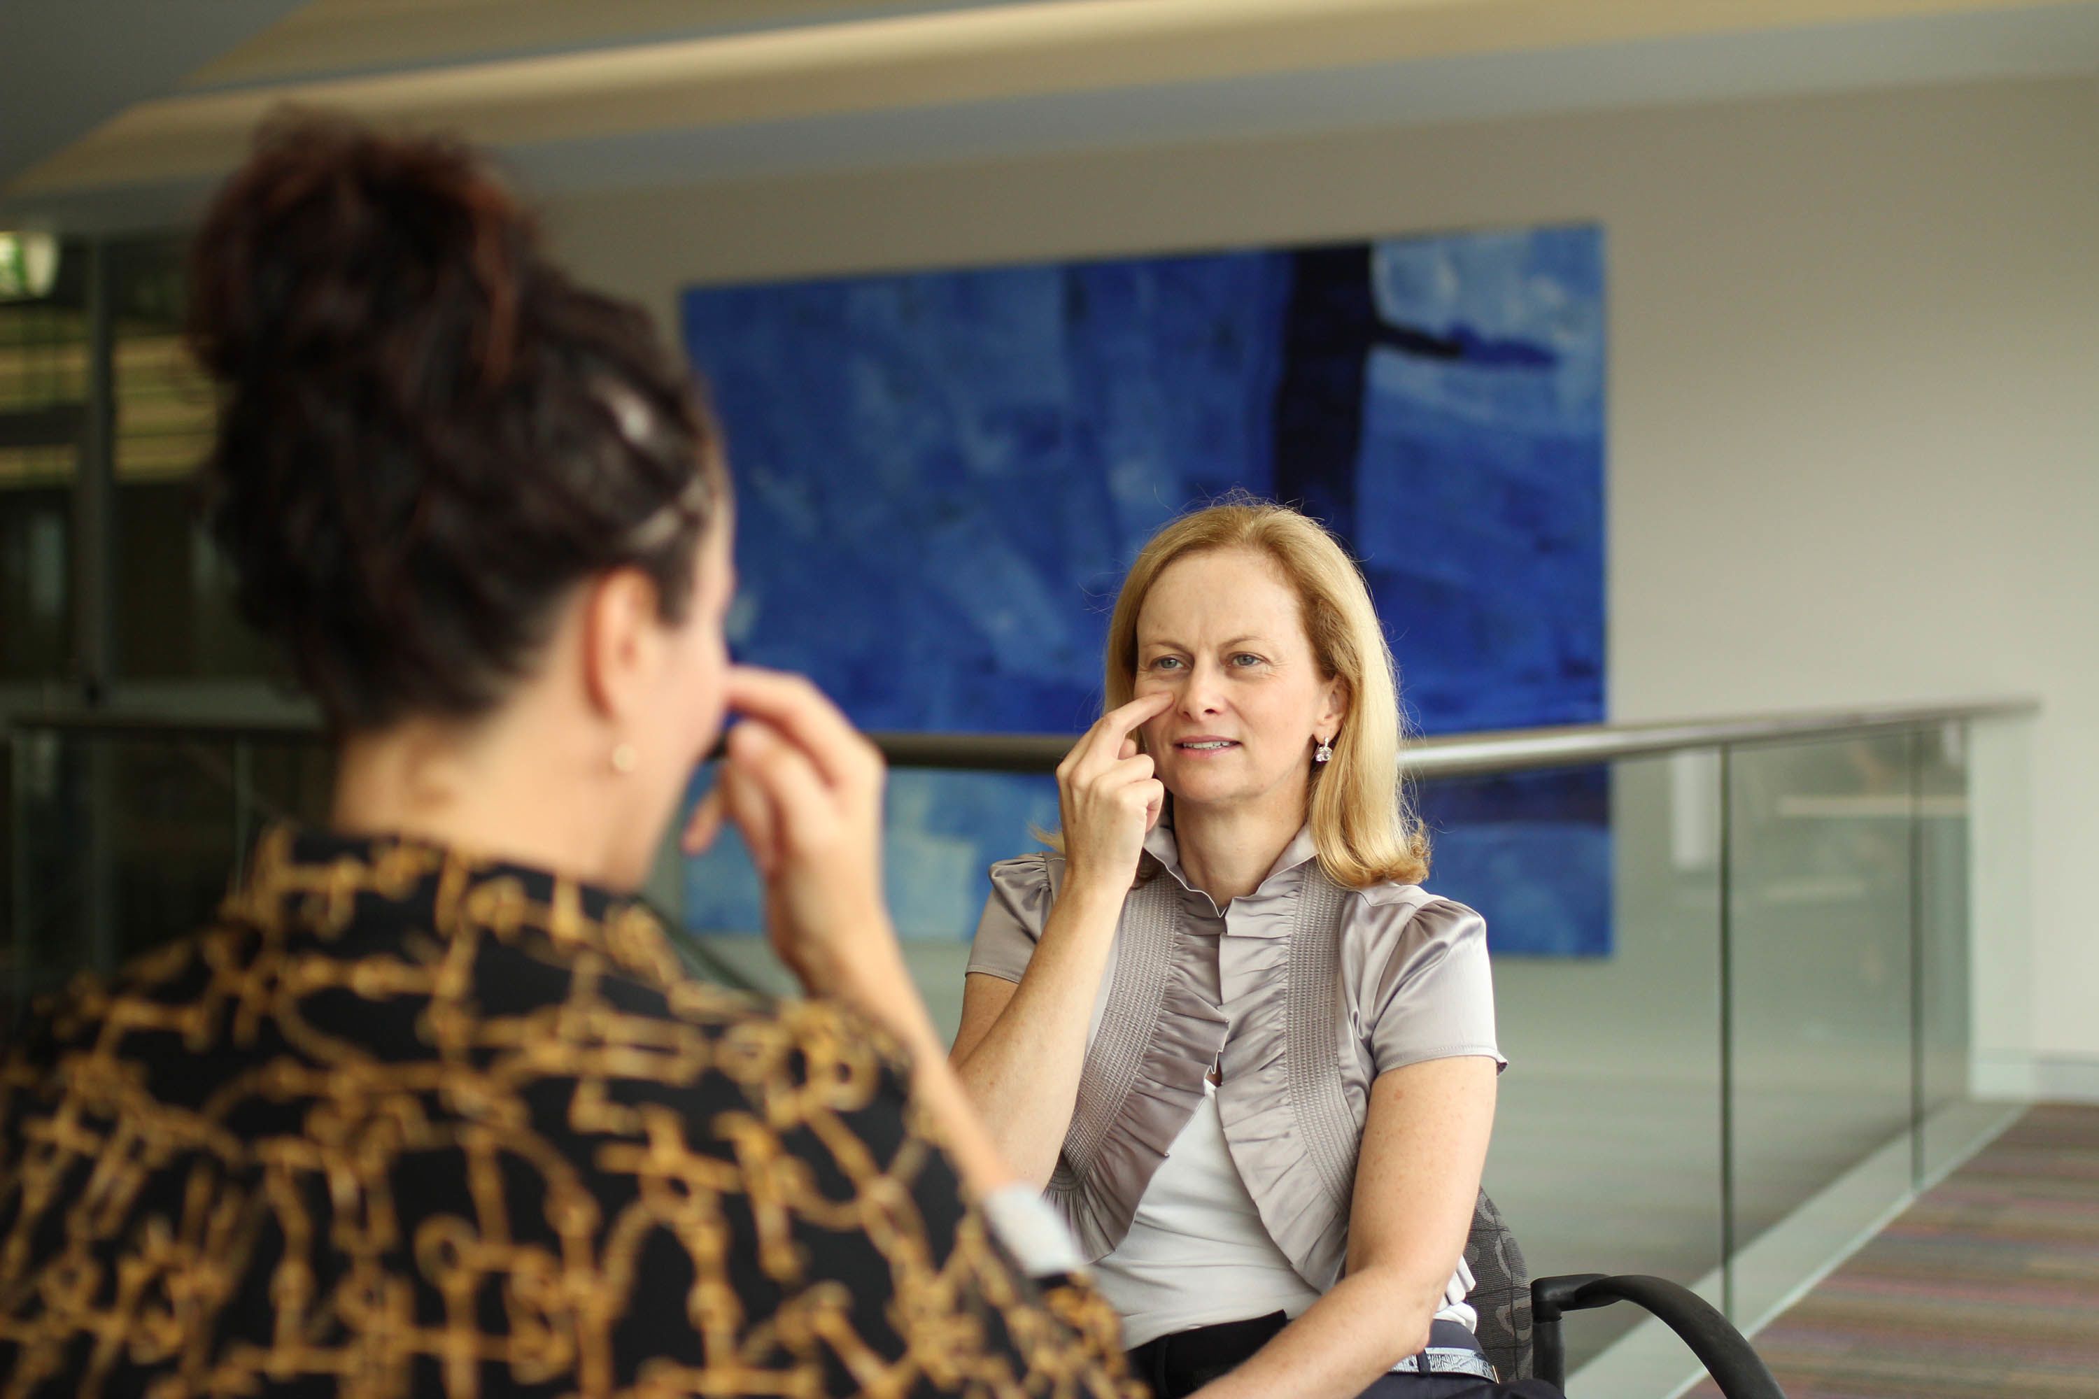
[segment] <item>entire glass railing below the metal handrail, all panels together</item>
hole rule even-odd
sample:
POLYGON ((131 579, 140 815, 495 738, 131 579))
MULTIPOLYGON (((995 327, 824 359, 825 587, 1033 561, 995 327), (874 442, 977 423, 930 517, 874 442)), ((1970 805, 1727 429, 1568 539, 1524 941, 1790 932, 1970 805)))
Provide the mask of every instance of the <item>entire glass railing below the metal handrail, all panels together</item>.
MULTIPOLYGON (((1660 1273, 1753 1323, 1975 1145, 1986 1114, 1963 1099, 2030 1019, 2023 728, 1742 734, 1423 782, 1427 885, 1490 927, 1513 1068, 1486 1183, 1532 1271, 1660 1273), (1948 1126, 1918 1141, 1912 1114, 1948 1126)), ((319 734, 25 724, 8 757, 10 992, 193 929, 264 824, 327 816, 319 734)), ((1054 822, 1047 774, 892 770, 888 894, 945 1032, 984 868, 1054 822)), ((793 990, 733 835, 665 873, 703 973, 793 990)), ((1637 1353, 1612 1344, 1633 1321, 1587 1315, 1572 1363, 1637 1353)))

